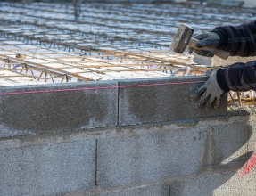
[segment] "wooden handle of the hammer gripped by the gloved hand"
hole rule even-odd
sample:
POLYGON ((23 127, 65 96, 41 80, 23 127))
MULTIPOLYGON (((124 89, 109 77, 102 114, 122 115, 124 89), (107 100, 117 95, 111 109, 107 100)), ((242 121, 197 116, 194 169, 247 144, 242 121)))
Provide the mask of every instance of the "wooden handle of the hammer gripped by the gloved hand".
POLYGON ((196 47, 196 43, 198 42, 199 40, 198 39, 195 39, 195 38, 191 38, 188 45, 192 48, 194 48, 195 50, 205 50, 205 51, 211 51, 211 53, 214 53, 214 55, 216 56, 219 56, 219 58, 221 59, 227 59, 228 56, 230 55, 229 52, 227 51, 223 51, 223 50, 219 50, 217 48, 213 48, 213 47, 202 47, 202 48, 198 48, 196 47))

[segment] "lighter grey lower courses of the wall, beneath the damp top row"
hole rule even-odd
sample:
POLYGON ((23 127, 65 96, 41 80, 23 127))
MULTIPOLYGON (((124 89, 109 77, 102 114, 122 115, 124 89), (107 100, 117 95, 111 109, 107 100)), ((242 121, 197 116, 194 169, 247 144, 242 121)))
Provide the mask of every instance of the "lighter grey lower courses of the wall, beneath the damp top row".
POLYGON ((227 118, 3 138, 0 195, 253 195, 255 117, 227 118))

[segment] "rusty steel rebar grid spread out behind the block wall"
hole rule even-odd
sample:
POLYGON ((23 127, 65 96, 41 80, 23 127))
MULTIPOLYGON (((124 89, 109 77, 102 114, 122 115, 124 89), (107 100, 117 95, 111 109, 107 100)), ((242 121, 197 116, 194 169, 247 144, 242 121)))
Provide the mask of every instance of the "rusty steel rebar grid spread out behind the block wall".
MULTIPOLYGON (((202 75, 213 68, 169 51, 180 23, 198 34, 256 14, 199 4, 82 4, 78 17, 72 4, 0 5, 0 76, 11 71, 17 75, 4 78, 38 83, 169 77, 185 66, 186 75, 202 75)), ((254 104, 249 99, 233 94, 229 102, 254 104)))

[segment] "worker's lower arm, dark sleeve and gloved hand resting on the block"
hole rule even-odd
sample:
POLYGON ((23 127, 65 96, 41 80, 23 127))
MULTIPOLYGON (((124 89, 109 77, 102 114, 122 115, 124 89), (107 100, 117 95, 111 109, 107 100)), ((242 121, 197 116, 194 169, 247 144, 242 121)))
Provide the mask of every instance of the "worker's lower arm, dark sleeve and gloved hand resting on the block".
POLYGON ((208 111, 211 107, 218 108, 222 95, 232 91, 256 91, 256 61, 237 62, 218 69, 199 88, 195 89, 190 98, 200 97, 195 103, 195 110, 208 111))

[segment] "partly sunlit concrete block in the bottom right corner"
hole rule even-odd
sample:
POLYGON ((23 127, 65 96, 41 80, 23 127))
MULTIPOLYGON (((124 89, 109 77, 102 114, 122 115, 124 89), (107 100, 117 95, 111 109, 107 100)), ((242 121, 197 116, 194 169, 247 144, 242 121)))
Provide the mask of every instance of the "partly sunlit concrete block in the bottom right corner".
POLYGON ((208 174, 174 181, 170 184, 171 196, 252 196, 256 192, 256 167, 244 176, 242 167, 238 171, 208 174))

